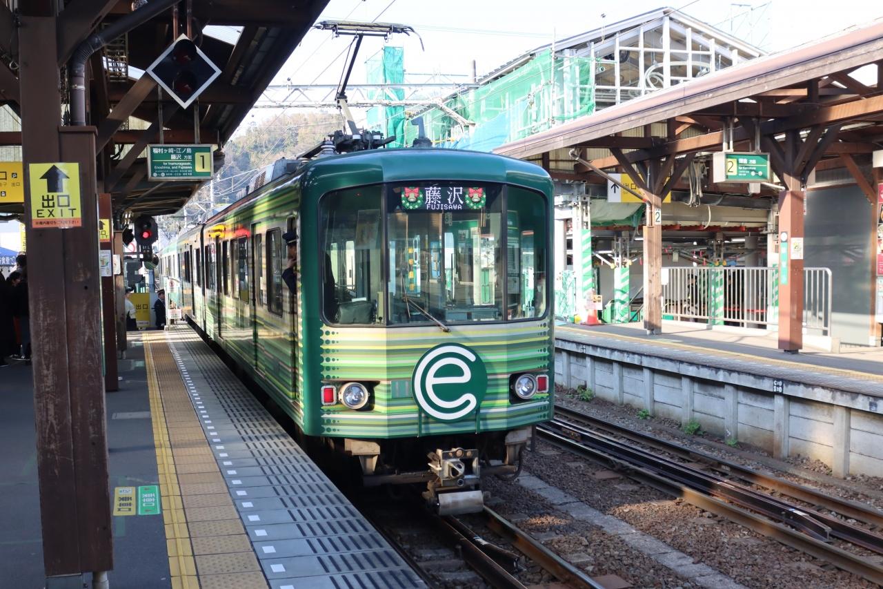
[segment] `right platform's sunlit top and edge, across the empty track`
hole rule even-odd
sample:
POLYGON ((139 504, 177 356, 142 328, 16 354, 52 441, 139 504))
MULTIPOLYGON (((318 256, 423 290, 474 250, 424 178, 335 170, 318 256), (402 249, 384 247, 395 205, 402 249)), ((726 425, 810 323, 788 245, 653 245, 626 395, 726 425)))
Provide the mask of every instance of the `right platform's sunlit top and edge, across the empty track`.
POLYGON ((715 327, 704 323, 663 322, 661 335, 646 335, 644 325, 555 326, 555 339, 610 345, 640 354, 799 380, 854 393, 883 397, 883 348, 843 347, 839 353, 804 348, 786 354, 777 333, 715 327))

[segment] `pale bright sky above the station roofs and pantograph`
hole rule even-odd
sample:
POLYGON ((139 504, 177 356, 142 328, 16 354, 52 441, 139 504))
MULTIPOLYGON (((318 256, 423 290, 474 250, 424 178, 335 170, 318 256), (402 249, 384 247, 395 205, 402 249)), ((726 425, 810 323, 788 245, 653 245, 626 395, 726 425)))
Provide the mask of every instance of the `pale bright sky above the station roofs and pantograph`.
MULTIPOLYGON (((604 23, 628 19, 663 6, 683 10, 767 51, 795 47, 848 27, 883 17, 883 3, 873 0, 331 0, 319 20, 350 19, 410 25, 414 36, 396 35, 389 42, 404 47, 405 73, 468 76, 475 60, 479 76, 518 55, 604 23)), ((292 53, 274 83, 335 84, 351 37, 311 30, 292 53)), ((381 50, 383 40, 367 38, 359 52, 351 83, 365 81, 363 64, 381 50)), ((468 77, 461 78, 468 81, 468 77)), ((275 111, 255 112, 255 118, 275 111)))

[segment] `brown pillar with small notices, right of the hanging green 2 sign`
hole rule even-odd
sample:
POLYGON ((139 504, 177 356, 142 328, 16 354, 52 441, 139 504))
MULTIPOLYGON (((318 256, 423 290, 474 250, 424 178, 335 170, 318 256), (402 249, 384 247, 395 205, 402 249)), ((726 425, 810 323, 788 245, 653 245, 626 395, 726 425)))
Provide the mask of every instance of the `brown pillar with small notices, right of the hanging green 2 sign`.
POLYGON ((804 347, 805 198, 803 190, 779 193, 779 349, 790 353, 804 347), (790 252, 797 249, 794 259, 790 252))

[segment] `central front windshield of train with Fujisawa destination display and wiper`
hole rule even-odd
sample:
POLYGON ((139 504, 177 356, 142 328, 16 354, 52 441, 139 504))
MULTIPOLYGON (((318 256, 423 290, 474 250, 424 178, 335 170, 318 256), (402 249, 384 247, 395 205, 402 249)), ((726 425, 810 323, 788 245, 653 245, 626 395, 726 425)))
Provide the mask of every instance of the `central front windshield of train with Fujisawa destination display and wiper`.
POLYGON ((503 320, 502 187, 387 190, 389 323, 503 320))

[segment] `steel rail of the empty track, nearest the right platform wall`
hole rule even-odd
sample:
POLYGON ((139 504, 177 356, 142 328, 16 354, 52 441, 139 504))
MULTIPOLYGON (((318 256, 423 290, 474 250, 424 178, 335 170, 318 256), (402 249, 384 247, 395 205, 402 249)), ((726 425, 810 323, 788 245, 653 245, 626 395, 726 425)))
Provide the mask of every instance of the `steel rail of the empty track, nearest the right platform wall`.
POLYGON ((857 525, 849 524, 837 517, 819 511, 819 509, 828 509, 835 513, 839 513, 842 516, 848 516, 861 521, 864 524, 883 529, 883 513, 880 513, 876 509, 869 508, 855 501, 845 501, 815 489, 797 485, 788 480, 758 473, 742 466, 741 464, 731 463, 721 458, 717 458, 716 456, 706 455, 701 452, 677 446, 666 440, 658 440, 645 433, 633 432, 620 425, 611 424, 608 421, 586 415, 575 409, 556 405, 555 411, 558 415, 576 419, 577 421, 584 422, 586 425, 592 425, 593 428, 606 430, 609 433, 628 438, 629 440, 636 441, 640 444, 664 450, 673 455, 685 457, 692 461, 707 463, 713 470, 723 472, 729 477, 741 478, 753 485, 763 486, 798 501, 809 503, 813 506, 812 509, 799 509, 806 511, 811 514, 813 518, 819 520, 821 524, 825 524, 829 527, 834 536, 847 540, 857 546, 872 550, 873 552, 883 554, 883 535, 879 532, 873 532, 857 525))

